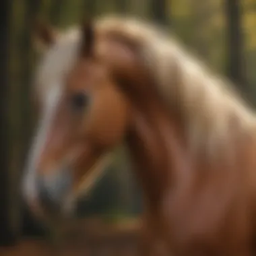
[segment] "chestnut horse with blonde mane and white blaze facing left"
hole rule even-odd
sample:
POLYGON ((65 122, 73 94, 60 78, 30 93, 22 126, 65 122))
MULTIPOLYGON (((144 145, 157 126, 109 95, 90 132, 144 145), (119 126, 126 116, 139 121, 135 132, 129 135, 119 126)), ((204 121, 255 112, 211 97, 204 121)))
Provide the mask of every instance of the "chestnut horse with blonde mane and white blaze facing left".
POLYGON ((69 216, 125 143, 143 193, 140 255, 254 255, 256 119, 233 84, 137 18, 42 27, 22 182, 34 214, 69 216))

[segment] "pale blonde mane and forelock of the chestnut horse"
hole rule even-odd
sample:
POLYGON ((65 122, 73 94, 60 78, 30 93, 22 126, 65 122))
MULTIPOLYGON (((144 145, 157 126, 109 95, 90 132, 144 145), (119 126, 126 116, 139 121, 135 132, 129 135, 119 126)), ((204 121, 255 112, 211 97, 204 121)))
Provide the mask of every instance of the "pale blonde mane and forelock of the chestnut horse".
MULTIPOLYGON (((228 145, 234 135, 253 134, 255 115, 234 88, 191 57, 173 36, 148 23, 119 17, 96 20, 96 30, 121 34, 141 46, 141 57, 160 96, 170 110, 181 113, 194 149, 203 146, 216 152, 217 145, 228 145)), ((42 77, 63 76, 76 57, 77 42, 77 29, 61 36, 40 66, 39 84, 47 84, 42 77)))

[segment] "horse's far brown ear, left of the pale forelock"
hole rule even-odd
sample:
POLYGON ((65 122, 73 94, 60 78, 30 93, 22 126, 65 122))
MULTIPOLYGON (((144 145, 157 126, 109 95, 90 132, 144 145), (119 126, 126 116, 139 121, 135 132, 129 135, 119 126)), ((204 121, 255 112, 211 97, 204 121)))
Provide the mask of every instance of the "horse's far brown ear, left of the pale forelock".
POLYGON ((57 39, 57 31, 46 22, 39 20, 36 20, 35 22, 32 35, 36 44, 40 44, 43 48, 49 48, 49 46, 53 45, 57 39))

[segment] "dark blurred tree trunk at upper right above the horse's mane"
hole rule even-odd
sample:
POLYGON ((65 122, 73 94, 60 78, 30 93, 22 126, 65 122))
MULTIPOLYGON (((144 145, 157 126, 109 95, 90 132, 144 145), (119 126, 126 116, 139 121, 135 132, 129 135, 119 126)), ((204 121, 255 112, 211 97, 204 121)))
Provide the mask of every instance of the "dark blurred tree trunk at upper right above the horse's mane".
POLYGON ((228 28, 227 51, 228 51, 228 76, 246 91, 245 62, 243 59, 243 36, 241 32, 241 7, 239 0, 226 0, 226 18, 228 28))

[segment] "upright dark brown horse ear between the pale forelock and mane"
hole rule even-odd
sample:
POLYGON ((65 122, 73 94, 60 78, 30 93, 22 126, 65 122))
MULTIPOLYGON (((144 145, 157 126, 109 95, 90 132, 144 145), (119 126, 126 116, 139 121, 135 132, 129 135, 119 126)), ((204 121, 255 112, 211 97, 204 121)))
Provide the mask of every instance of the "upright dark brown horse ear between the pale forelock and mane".
POLYGON ((81 55, 82 57, 90 57, 93 55, 95 42, 95 32, 92 20, 82 22, 82 44, 81 55))

